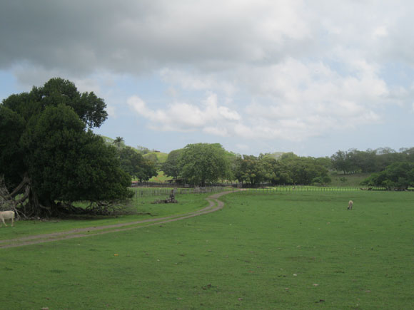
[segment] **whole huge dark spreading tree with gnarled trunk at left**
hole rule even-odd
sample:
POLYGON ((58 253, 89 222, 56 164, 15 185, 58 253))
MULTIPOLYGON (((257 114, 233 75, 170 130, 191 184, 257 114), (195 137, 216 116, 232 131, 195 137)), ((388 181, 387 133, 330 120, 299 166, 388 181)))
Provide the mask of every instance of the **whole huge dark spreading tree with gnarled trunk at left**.
POLYGON ((50 216, 74 210, 76 201, 103 205, 129 197, 131 179, 116 149, 91 131, 106 120, 105 108, 94 93, 79 93, 61 78, 3 100, 0 175, 10 194, 4 198, 26 216, 50 216))

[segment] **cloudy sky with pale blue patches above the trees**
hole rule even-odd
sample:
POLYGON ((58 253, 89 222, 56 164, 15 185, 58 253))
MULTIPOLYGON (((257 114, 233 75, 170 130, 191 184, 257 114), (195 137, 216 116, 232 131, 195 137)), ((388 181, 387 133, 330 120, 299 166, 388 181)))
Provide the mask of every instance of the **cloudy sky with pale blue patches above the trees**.
POLYGON ((0 100, 50 78, 169 153, 414 146, 410 0, 0 0, 0 100))

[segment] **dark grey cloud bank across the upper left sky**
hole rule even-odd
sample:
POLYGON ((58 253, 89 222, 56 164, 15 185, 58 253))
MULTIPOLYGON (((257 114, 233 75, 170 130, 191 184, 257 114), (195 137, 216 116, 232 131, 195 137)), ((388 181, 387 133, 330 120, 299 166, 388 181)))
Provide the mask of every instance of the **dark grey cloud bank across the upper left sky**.
POLYGON ((303 14, 292 3, 284 12, 278 2, 263 1, 2 1, 0 68, 140 73, 278 61, 312 42, 303 35, 305 16, 282 20, 303 14))

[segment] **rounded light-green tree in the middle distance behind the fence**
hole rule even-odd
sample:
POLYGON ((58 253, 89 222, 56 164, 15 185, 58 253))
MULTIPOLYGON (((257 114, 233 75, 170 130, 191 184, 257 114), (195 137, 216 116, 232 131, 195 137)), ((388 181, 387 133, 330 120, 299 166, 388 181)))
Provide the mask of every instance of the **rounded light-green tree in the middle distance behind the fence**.
POLYGON ((231 175, 226 150, 218 143, 188 144, 181 155, 181 175, 186 182, 201 186, 226 180, 231 175))

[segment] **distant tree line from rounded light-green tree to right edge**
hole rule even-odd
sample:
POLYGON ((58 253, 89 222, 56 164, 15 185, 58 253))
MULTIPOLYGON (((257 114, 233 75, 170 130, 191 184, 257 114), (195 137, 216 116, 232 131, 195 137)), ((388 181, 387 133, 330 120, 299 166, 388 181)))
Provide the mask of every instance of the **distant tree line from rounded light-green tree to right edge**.
POLYGON ((301 157, 293 153, 238 155, 220 144, 197 143, 168 154, 161 170, 192 185, 236 181, 246 185, 328 185, 330 170, 343 174, 373 173, 363 185, 407 189, 414 185, 414 148, 360 151, 338 150, 329 157, 301 157), (404 167, 404 168, 402 168, 404 167), (376 172, 376 173, 374 173, 376 172))

